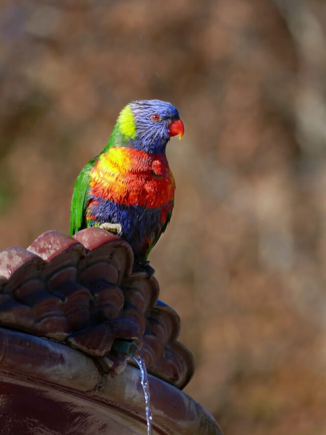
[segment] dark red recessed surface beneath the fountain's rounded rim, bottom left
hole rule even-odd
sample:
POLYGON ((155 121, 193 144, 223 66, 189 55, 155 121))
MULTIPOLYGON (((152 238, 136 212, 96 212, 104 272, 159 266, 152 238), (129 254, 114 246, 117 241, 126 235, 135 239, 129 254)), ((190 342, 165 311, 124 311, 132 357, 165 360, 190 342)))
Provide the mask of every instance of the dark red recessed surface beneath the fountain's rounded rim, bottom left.
POLYGON ((0 373, 1 435, 144 433, 119 407, 0 373))

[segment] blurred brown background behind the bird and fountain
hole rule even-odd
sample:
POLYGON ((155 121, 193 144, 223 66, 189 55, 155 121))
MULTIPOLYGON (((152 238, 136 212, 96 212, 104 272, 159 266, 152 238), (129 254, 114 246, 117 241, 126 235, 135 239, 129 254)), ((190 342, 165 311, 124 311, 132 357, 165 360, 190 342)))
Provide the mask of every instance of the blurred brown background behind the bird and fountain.
POLYGON ((151 254, 226 435, 326 433, 324 0, 0 5, 0 248, 68 233, 83 165, 132 99, 185 124, 151 254))

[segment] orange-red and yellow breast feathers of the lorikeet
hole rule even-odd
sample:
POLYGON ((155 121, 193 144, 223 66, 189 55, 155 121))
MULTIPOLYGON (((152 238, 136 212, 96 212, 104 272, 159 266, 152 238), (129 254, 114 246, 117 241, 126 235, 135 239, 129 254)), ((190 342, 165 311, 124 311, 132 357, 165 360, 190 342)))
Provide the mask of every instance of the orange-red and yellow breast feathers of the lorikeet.
POLYGON ((114 147, 100 155, 90 194, 119 204, 157 208, 174 199, 175 182, 164 154, 114 147))

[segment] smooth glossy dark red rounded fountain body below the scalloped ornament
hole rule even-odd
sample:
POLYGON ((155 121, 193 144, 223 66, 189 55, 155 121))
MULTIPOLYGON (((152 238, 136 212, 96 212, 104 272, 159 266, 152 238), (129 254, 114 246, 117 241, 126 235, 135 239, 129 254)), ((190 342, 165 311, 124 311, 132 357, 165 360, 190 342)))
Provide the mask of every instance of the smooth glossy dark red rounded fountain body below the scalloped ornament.
MULTIPOLYGON (((221 433, 191 397, 154 376, 149 384, 154 433, 221 433)), ((144 434, 140 372, 112 378, 65 344, 0 328, 0 421, 0 435, 144 434)))

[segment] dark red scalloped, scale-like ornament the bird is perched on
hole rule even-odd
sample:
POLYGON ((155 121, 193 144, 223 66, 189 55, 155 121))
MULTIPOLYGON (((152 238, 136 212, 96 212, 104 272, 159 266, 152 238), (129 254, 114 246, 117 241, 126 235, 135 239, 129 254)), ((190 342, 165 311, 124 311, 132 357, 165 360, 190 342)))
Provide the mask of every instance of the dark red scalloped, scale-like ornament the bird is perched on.
POLYGON ((134 341, 149 373, 183 388, 195 365, 177 341, 179 316, 157 304, 156 279, 132 264, 128 243, 101 228, 72 238, 48 231, 27 250, 8 248, 0 252, 0 326, 68 343, 112 376, 126 367, 113 343, 134 341))

